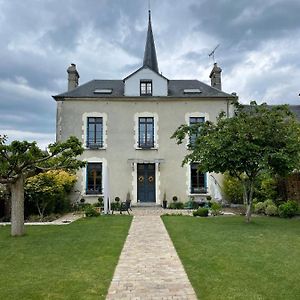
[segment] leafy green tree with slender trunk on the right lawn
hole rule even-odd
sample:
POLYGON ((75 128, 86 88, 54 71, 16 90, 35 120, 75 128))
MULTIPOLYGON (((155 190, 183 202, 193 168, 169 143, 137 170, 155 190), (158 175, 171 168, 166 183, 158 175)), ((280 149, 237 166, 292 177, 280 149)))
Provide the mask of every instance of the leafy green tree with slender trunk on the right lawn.
POLYGON ((221 113, 216 123, 181 125, 172 138, 181 144, 195 133, 183 164, 199 162, 200 172, 228 172, 237 178, 248 222, 257 177, 266 171, 285 175, 299 167, 300 126, 287 105, 236 104, 233 117, 221 113))

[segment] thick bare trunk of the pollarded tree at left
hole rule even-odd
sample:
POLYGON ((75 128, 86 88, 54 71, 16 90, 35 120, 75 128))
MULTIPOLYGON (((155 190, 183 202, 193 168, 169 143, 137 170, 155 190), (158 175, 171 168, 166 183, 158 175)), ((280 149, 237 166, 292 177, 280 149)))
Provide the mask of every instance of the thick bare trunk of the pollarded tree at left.
POLYGON ((11 184, 11 235, 20 236, 24 233, 24 177, 20 176, 11 184))

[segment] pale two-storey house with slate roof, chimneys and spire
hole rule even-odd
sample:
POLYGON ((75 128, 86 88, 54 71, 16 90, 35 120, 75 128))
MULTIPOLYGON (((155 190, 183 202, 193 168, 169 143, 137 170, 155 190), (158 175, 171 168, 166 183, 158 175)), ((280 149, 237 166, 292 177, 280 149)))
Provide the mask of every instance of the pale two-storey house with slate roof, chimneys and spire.
POLYGON ((230 115, 236 96, 221 89, 221 69, 214 64, 211 86, 198 80, 171 80, 159 73, 149 12, 144 61, 120 80, 92 80, 78 85, 72 64, 68 91, 57 102, 57 140, 77 136, 85 151, 86 168, 78 173, 76 189, 89 202, 101 195, 133 204, 161 204, 190 196, 220 198, 217 174, 197 172, 197 164, 181 166, 187 144, 170 139, 183 123, 215 121, 230 115))

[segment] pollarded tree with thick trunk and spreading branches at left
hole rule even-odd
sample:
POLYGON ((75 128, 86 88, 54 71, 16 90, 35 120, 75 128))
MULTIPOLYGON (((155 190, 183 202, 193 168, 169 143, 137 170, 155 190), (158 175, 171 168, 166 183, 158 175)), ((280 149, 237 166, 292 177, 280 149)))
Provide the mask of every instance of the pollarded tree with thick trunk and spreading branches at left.
POLYGON ((13 141, 6 144, 6 136, 0 136, 0 183, 11 190, 11 235, 19 236, 24 227, 24 182, 27 178, 51 169, 77 170, 85 162, 77 159, 83 153, 76 137, 56 142, 42 151, 35 142, 13 141))

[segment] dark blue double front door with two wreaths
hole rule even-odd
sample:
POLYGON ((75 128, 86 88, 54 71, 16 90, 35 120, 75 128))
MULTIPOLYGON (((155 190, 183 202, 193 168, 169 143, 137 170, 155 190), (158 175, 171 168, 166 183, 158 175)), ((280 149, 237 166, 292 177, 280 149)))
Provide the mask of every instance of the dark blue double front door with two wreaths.
POLYGON ((137 165, 137 194, 141 202, 156 202, 155 164, 137 165))

